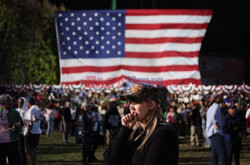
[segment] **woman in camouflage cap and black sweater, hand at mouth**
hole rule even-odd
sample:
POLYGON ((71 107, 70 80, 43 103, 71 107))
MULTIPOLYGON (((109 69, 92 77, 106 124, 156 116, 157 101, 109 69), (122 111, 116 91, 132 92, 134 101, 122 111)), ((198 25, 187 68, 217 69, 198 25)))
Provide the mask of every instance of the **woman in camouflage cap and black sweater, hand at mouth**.
POLYGON ((104 152, 107 165, 178 164, 177 135, 162 121, 157 89, 137 83, 120 99, 129 100, 130 113, 122 117, 119 134, 104 152))

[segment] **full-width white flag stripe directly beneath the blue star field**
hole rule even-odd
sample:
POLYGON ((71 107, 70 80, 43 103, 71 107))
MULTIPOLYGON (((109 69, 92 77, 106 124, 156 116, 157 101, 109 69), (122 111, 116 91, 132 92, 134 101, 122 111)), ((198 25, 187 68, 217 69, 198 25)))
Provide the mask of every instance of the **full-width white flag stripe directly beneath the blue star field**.
POLYGON ((198 65, 198 57, 164 57, 164 58, 103 58, 103 59, 61 59, 61 67, 77 66, 167 66, 167 65, 198 65), (138 62, 140 61, 140 62, 138 62))

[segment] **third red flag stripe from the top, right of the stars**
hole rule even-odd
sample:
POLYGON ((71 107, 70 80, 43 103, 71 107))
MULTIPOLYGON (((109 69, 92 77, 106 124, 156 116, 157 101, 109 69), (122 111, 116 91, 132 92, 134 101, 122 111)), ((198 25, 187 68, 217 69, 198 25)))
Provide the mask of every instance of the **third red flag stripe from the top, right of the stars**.
POLYGON ((203 37, 187 38, 187 37, 162 37, 162 38, 126 38, 126 44, 156 44, 156 43, 200 43, 203 37))

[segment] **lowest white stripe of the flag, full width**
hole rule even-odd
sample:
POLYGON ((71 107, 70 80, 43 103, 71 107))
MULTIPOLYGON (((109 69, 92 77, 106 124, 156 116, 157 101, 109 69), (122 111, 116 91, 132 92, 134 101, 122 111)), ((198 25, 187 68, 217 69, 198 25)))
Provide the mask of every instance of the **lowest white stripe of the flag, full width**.
POLYGON ((127 71, 127 70, 119 70, 113 72, 84 72, 84 73, 73 73, 73 74, 63 74, 62 81, 63 82, 71 82, 71 81, 80 81, 80 80, 89 80, 89 77, 95 77, 96 80, 108 80, 112 78, 116 78, 119 76, 127 75, 130 77, 134 77, 136 79, 154 79, 154 80, 175 80, 175 79, 200 79, 199 71, 181 71, 181 72, 160 72, 160 73, 150 73, 150 72, 135 72, 135 71, 127 71))

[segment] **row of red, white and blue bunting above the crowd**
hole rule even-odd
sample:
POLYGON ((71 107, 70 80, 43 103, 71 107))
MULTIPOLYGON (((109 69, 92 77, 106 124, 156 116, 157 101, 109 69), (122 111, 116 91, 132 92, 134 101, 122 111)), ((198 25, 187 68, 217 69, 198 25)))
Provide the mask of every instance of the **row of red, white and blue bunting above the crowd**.
MULTIPOLYGON (((52 87, 52 89, 61 89, 64 91, 82 91, 82 90, 91 90, 92 92, 99 93, 103 90, 107 90, 107 92, 112 91, 113 89, 122 90, 123 87, 121 83, 116 84, 116 87, 112 86, 103 86, 103 85, 95 85, 95 86, 89 86, 86 87, 82 84, 79 85, 45 85, 45 84, 29 84, 29 85, 21 85, 21 84, 12 84, 12 85, 4 85, 7 92, 14 91, 23 91, 25 89, 30 89, 35 92, 42 92, 45 89, 49 89, 52 87)), ((194 91, 197 92, 204 92, 205 94, 211 92, 211 93, 217 93, 221 94, 223 92, 229 93, 229 92, 235 92, 235 91, 241 91, 247 94, 250 94, 250 85, 195 85, 195 84, 189 84, 189 85, 169 85, 167 86, 167 90, 169 93, 193 93, 194 91)))

